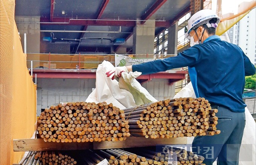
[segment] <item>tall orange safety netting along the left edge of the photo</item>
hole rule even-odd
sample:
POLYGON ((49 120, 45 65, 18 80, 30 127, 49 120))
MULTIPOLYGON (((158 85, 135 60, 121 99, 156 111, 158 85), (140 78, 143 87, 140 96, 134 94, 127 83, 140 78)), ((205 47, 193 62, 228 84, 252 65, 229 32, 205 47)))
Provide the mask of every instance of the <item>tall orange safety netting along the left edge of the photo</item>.
POLYGON ((26 66, 14 21, 15 0, 0 1, 0 164, 18 163, 12 139, 30 138, 36 121, 36 86, 26 66))

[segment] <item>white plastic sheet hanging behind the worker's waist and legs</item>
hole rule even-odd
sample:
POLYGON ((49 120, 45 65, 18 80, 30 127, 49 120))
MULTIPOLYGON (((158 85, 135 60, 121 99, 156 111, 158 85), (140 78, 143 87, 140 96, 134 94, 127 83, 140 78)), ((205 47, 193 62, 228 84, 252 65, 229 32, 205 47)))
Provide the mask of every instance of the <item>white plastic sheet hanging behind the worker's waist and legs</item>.
MULTIPOLYGON (((180 90, 180 92, 178 92, 174 96, 174 98, 180 98, 180 97, 195 98, 195 92, 191 82, 188 83, 183 89, 180 90)), ((247 107, 245 107, 245 118, 246 118, 246 124, 244 128, 244 135, 242 138, 242 144, 241 144, 240 153, 239 153, 239 165, 255 165, 256 164, 256 160, 255 160, 256 124, 247 107), (247 161, 244 161, 244 160, 247 160, 247 161)), ((188 137, 187 144, 192 144, 193 139, 194 137, 188 137)), ((213 165, 216 165, 216 162, 213 163, 213 165)))

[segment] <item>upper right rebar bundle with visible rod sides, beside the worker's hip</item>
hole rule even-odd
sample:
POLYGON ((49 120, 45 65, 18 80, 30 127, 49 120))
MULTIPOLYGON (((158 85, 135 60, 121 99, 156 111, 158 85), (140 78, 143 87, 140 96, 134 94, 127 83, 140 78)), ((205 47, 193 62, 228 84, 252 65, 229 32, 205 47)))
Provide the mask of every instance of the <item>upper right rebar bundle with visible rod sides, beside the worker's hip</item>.
POLYGON ((132 136, 171 138, 219 134, 217 109, 205 98, 166 99, 123 110, 132 136))

